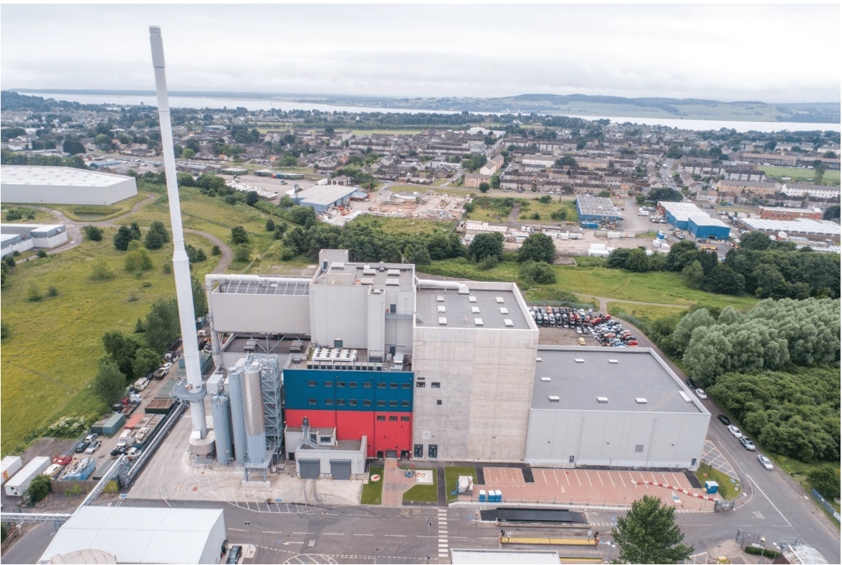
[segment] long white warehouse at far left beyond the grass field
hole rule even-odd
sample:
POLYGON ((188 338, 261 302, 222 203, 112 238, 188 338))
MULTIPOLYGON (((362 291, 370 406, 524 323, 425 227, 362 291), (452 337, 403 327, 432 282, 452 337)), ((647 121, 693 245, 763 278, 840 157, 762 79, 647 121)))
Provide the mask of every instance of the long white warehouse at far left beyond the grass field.
POLYGON ((3 204, 109 205, 137 195, 132 177, 81 168, 3 165, 0 174, 3 204))

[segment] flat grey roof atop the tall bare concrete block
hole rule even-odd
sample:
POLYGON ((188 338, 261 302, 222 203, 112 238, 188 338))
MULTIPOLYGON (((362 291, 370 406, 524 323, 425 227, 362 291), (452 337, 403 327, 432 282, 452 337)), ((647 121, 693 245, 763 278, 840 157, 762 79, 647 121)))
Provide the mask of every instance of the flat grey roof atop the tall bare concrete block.
POLYGON ((473 329, 531 329, 526 314, 520 309, 512 290, 476 290, 459 294, 455 289, 418 289, 415 298, 416 326, 420 328, 473 328, 473 329), (474 297, 476 301, 471 301, 474 297), (503 301, 498 301, 498 298, 503 301), (440 312, 443 308, 444 312, 440 312), (478 312, 475 312, 474 309, 478 312), (500 309, 504 308, 505 312, 500 309), (440 323, 439 318, 445 318, 440 323), (482 325, 477 324, 482 320, 482 325), (505 320, 510 320, 507 325, 505 320))

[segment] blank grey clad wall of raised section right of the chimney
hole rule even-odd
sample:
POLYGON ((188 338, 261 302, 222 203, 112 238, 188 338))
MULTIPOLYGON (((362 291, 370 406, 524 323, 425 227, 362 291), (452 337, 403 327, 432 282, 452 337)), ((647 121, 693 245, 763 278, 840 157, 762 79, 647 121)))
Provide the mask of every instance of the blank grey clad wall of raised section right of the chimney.
POLYGON ((310 297, 211 292, 217 332, 310 333, 310 297))

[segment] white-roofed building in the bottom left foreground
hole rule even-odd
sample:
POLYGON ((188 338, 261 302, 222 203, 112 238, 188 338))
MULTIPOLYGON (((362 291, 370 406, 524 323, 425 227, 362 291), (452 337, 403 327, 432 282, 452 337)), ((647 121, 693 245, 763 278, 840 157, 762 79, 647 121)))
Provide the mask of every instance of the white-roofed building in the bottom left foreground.
POLYGON ((225 543, 221 509, 83 506, 39 563, 218 563, 225 543))

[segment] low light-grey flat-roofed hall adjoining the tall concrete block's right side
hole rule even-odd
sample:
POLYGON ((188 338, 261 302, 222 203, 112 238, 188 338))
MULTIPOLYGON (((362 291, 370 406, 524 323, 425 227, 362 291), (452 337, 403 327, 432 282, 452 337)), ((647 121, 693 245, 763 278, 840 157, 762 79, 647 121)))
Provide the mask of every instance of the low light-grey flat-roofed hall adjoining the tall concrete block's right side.
POLYGON ((711 413, 652 349, 541 346, 525 462, 695 469, 711 413))

